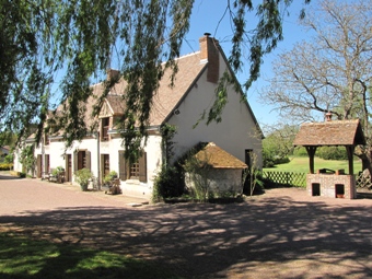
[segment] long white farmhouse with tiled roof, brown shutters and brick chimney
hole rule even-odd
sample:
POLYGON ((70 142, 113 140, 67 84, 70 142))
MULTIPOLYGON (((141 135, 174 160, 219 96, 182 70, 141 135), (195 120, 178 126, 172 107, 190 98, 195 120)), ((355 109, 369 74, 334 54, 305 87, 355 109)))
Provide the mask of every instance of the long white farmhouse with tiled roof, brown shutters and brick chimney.
MULTIPOLYGON (((116 117, 123 114, 124 105, 121 96, 125 82, 119 81, 106 97, 100 116, 95 119, 86 117, 88 125, 98 124, 96 132, 73 142, 67 150, 61 137, 44 137, 35 149, 37 164, 34 175, 42 178, 43 173, 62 166, 66 170, 66 181, 74 183, 73 173, 83 167, 90 168, 101 181, 109 171, 116 171, 123 194, 149 198, 154 177, 164 160, 160 132, 164 124, 177 127, 173 138, 175 160, 199 142, 213 142, 247 165, 251 164, 249 153, 254 152, 260 168, 261 137, 257 137, 260 129, 249 104, 242 101, 242 91, 235 92, 234 86, 228 86, 229 102, 221 123, 207 126, 200 121, 194 128, 201 114, 213 103, 222 74, 228 71, 234 77, 217 39, 207 34, 199 43, 200 51, 177 59, 178 73, 173 88, 168 86, 171 72, 166 72, 161 80, 151 111, 149 138, 143 147, 143 156, 138 162, 132 165, 125 162, 123 139, 114 126, 116 117)), ((117 71, 109 71, 107 78, 112 74, 117 74, 117 71)), ((94 94, 100 94, 103 86, 101 83, 93 85, 94 94)), ((90 100, 86 103, 88 113, 92 107, 93 101, 90 100)), ((22 171, 19 154, 20 151, 15 153, 15 171, 22 171)))

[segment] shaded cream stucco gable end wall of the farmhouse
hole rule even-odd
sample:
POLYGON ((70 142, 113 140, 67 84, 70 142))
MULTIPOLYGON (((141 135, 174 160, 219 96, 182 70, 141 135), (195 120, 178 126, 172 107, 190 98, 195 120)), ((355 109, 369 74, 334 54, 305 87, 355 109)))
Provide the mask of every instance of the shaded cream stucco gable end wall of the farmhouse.
MULTIPOLYGON (((220 57, 220 75, 226 69, 220 57)), ((198 142, 214 142, 229 153, 245 162, 245 150, 252 149, 258 156, 261 167, 261 140, 257 137, 255 123, 247 106, 241 102, 241 94, 229 88, 229 103, 222 113, 222 121, 206 125, 202 120, 196 128, 201 114, 210 108, 214 101, 217 84, 207 82, 207 71, 197 80, 195 86, 178 107, 179 114, 173 115, 170 124, 178 127, 174 137, 175 156, 181 156, 198 142)))

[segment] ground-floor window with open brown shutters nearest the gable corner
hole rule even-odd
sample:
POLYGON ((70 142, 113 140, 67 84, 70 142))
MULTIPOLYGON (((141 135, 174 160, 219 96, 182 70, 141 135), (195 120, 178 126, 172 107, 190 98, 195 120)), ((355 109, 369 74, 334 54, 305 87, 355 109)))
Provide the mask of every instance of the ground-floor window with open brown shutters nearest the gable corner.
POLYGON ((118 152, 119 155, 119 178, 121 181, 126 179, 138 179, 140 182, 148 182, 147 177, 147 153, 143 152, 143 155, 138 160, 138 162, 128 166, 124 151, 118 152))

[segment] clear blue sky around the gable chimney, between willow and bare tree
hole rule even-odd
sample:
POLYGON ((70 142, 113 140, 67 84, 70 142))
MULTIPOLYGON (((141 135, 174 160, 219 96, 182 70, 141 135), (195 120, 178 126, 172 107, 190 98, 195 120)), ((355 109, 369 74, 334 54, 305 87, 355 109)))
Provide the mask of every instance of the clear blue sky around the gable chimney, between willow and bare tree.
MULTIPOLYGON (((196 0, 191 14, 190 31, 186 36, 187 42, 184 44, 182 55, 199 50, 198 39, 206 32, 211 33, 213 37, 219 39, 225 55, 230 55, 231 44, 229 43, 229 38, 232 36, 232 31, 229 22, 229 15, 225 15, 225 18, 220 22, 224 13, 226 2, 228 0, 196 0), (219 27, 217 28, 217 26, 219 27)), ((314 5, 317 2, 318 0, 312 0, 311 5, 314 5)), ((306 9, 309 7, 310 5, 306 5, 306 9)), ((263 86, 267 85, 265 80, 271 75, 271 62, 277 58, 278 54, 284 51, 286 49, 291 49, 297 42, 306 38, 306 33, 304 32, 303 27, 298 24, 299 14, 302 8, 302 0, 293 1, 289 9, 290 16, 286 16, 284 19, 284 39, 279 43, 277 49, 274 53, 264 58, 260 78, 247 92, 248 102, 258 123, 261 126, 275 124, 278 119, 278 114, 272 112, 274 107, 259 103, 259 91, 263 86)), ((252 21, 252 25, 254 26, 254 13, 252 13, 252 16, 253 18, 247 19, 247 24, 249 24, 249 21, 252 21)), ((246 79, 247 73, 248 70, 243 70, 236 74, 240 82, 243 82, 246 79)))

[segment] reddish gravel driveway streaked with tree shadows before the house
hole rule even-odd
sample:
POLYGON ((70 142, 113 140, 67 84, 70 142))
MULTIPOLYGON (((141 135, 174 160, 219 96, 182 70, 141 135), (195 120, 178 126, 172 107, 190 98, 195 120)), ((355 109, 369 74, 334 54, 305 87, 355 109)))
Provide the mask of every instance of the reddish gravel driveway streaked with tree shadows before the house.
POLYGON ((241 204, 128 205, 140 201, 0 175, 0 231, 132 255, 185 278, 372 278, 370 198, 280 188, 241 204))

